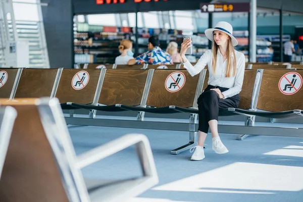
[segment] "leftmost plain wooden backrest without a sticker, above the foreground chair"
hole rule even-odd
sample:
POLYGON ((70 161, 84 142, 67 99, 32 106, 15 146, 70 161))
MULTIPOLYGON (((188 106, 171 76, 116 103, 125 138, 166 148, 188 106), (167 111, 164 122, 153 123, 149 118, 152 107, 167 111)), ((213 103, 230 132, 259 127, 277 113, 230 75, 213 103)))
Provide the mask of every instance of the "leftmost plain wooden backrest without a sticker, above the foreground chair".
POLYGON ((51 96, 58 69, 23 69, 15 98, 51 96))

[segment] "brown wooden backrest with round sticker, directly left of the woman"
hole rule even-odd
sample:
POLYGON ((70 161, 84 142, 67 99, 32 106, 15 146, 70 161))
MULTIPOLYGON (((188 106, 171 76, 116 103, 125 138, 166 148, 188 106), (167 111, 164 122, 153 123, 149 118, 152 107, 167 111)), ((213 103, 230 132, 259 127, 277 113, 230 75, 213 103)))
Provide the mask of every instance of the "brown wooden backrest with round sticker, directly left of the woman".
POLYGON ((156 69, 151 80, 146 105, 153 107, 192 107, 198 84, 199 74, 190 76, 187 70, 161 70, 156 69), (185 83, 179 91, 169 92, 166 89, 166 79, 172 73, 181 72, 185 75, 185 83))

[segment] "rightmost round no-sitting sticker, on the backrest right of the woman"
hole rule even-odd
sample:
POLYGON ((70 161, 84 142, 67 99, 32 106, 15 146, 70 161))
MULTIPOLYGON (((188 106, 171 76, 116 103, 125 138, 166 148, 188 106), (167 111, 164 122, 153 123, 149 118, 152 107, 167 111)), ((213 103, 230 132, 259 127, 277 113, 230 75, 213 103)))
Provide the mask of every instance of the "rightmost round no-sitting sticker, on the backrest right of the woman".
POLYGON ((279 89, 285 95, 292 95, 302 87, 302 77, 297 72, 284 74, 279 81, 279 89))

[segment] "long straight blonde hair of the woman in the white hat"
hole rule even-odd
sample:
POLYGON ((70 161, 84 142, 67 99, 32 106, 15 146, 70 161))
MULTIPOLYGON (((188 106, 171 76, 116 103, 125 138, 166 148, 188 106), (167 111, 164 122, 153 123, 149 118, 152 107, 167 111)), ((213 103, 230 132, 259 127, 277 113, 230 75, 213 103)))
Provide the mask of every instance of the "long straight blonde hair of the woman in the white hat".
MULTIPOLYGON (((215 73, 216 72, 216 65, 217 65, 217 53, 219 49, 219 45, 217 45, 216 42, 213 42, 213 62, 212 62, 212 70, 215 73)), ((237 71, 237 61, 236 61, 236 55, 235 50, 231 43, 231 38, 227 40, 227 49, 226 49, 226 58, 227 58, 227 64, 226 64, 226 72, 225 77, 230 77, 231 73, 233 73, 233 77, 236 75, 237 71), (232 61, 231 54, 233 55, 234 60, 232 61)))

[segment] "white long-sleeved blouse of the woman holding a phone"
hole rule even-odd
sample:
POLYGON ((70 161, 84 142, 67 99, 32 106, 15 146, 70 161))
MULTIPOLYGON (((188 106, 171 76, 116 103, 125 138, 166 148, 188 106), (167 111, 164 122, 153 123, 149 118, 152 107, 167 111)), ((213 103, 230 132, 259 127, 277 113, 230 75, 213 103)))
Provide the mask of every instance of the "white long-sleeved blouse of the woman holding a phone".
MULTIPOLYGON (((224 88, 229 88, 228 90, 222 92, 224 99, 227 97, 232 97, 238 94, 241 91, 243 78, 244 78, 244 69, 245 69, 245 56, 243 53, 235 51, 236 61, 237 61, 237 72, 233 77, 233 72, 231 77, 225 77, 226 73, 226 64, 227 60, 223 61, 223 56, 218 49, 217 53, 217 67, 216 72, 212 70, 212 60, 213 52, 211 49, 207 50, 201 58, 198 60, 195 66, 192 66, 188 60, 184 63, 184 68, 187 69, 191 76, 194 76, 200 73, 206 65, 208 65, 208 70, 210 73, 209 76, 209 85, 220 86, 224 88)), ((233 58, 233 54, 231 55, 233 58)))

